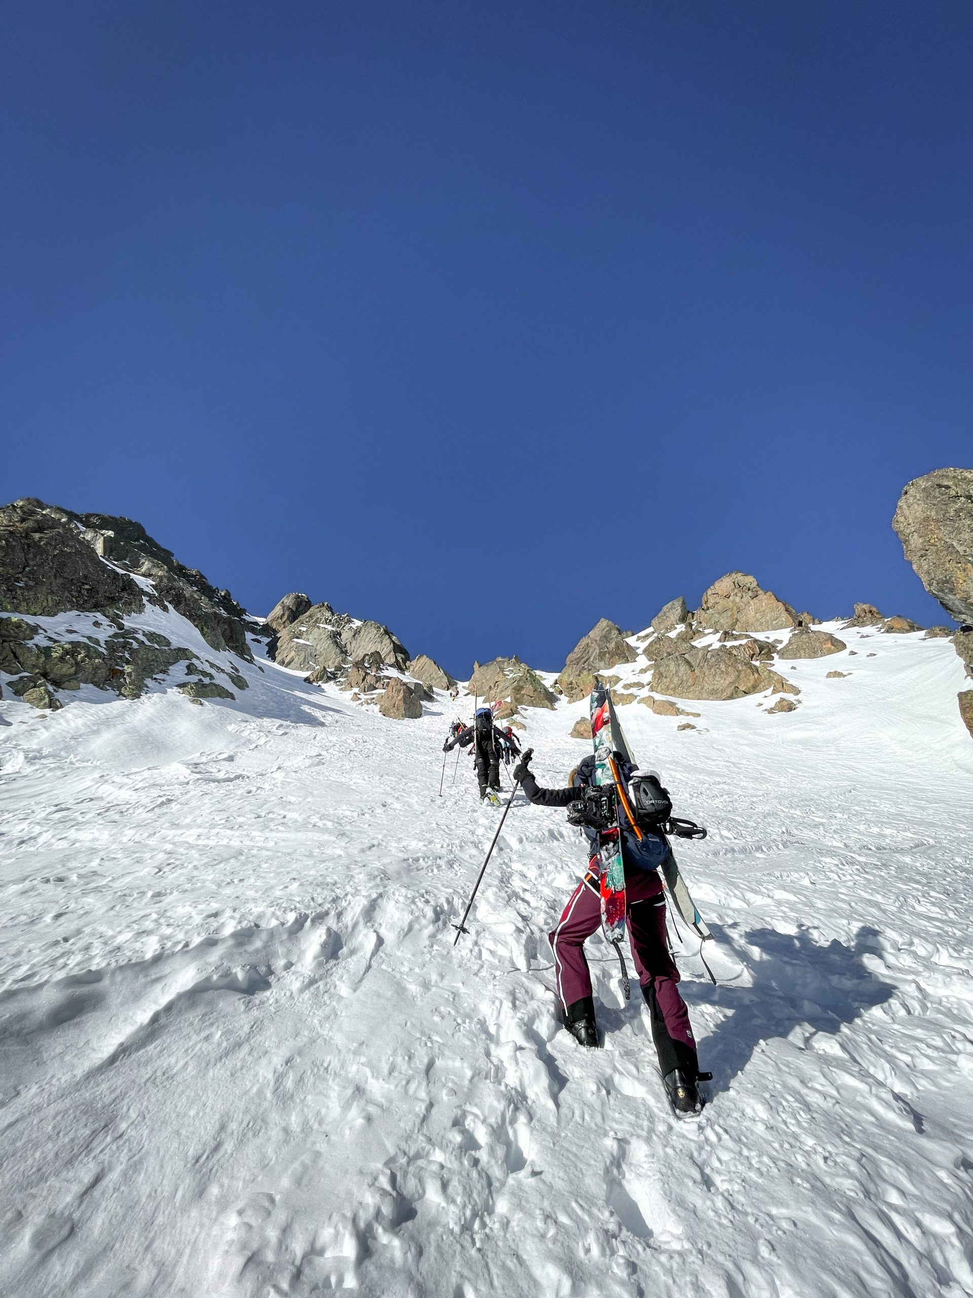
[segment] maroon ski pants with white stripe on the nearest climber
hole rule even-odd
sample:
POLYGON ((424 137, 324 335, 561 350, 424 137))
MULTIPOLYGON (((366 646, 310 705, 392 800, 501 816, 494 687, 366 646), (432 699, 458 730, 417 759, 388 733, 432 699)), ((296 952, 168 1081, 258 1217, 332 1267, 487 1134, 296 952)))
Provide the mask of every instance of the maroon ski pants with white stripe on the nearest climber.
MULTIPOLYGON (((666 900, 654 870, 625 871, 625 919, 632 957, 653 1020, 653 1038, 663 1073, 695 1071, 695 1040, 686 1002, 679 993, 679 970, 666 941, 666 900)), ((564 1010, 592 996, 584 944, 601 927, 598 876, 589 871, 571 893, 560 922, 549 935, 558 996, 564 1010)))

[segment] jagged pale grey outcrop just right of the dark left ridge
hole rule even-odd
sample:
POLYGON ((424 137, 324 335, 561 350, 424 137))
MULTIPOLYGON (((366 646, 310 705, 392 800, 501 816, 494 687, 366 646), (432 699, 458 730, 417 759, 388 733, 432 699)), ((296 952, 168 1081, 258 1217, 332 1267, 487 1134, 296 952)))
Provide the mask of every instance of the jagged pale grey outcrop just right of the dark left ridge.
POLYGON ((274 658, 283 667, 309 672, 315 681, 345 676, 353 663, 403 671, 409 653, 388 627, 335 613, 330 604, 314 604, 278 635, 274 658))

